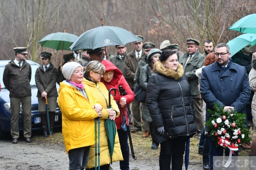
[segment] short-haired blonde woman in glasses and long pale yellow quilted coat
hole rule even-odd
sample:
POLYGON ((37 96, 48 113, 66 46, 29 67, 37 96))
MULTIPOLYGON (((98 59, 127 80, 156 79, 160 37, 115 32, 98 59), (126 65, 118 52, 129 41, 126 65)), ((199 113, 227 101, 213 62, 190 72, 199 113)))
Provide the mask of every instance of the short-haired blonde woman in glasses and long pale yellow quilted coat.
MULTIPOLYGON (((102 73, 105 72, 105 67, 98 61, 91 61, 86 67, 83 80, 83 84, 89 86, 89 90, 94 95, 94 97, 102 105, 102 118, 100 119, 100 170, 109 170, 110 165, 110 154, 108 149, 108 135, 106 133, 104 121, 108 119, 108 115, 105 116, 103 113, 104 109, 109 111, 109 116, 111 120, 118 117, 120 112, 118 105, 116 104, 113 96, 111 96, 111 109, 108 108, 109 101, 109 91, 106 89, 105 85, 100 82, 103 77, 102 73)), ((87 87, 86 87, 87 88, 87 87)), ((116 133, 114 152, 112 156, 112 162, 123 160, 122 151, 119 144, 118 134, 116 133)), ((95 169, 95 145, 91 146, 89 162, 87 164, 86 170, 95 169), (87 169, 88 168, 88 169, 87 169)))

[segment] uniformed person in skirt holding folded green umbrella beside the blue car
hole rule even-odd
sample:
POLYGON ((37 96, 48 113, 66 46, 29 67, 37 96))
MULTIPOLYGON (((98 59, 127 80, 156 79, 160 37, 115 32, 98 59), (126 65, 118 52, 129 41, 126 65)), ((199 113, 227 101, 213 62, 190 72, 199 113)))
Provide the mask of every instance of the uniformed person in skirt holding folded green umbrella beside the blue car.
POLYGON ((50 62, 52 53, 41 52, 42 65, 35 71, 35 84, 37 85, 38 92, 38 111, 41 112, 41 124, 43 126, 43 136, 53 136, 53 127, 55 122, 56 103, 58 91, 56 88, 57 82, 57 69, 50 62), (49 123, 50 134, 47 131, 47 117, 45 110, 45 99, 48 99, 49 107, 49 123))

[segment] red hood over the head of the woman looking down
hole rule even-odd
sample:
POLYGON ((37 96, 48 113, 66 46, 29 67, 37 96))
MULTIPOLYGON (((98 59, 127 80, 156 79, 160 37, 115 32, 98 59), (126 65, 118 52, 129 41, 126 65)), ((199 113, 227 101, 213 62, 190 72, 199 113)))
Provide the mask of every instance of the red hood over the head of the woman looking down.
POLYGON ((117 82, 121 79, 123 73, 113 63, 111 63, 108 60, 103 60, 101 64, 105 66, 106 71, 114 70, 114 77, 110 83, 104 82, 103 78, 101 78, 100 81, 103 82, 104 84, 111 84, 111 85, 117 84, 117 82))

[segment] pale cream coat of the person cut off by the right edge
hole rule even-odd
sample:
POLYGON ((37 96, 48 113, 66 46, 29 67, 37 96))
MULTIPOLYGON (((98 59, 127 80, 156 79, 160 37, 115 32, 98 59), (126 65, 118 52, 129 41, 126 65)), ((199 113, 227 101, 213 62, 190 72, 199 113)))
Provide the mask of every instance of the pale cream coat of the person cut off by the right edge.
POLYGON ((252 62, 253 69, 249 73, 249 83, 251 90, 254 91, 254 96, 252 100, 252 117, 253 117, 253 126, 256 126, 256 60, 252 62))

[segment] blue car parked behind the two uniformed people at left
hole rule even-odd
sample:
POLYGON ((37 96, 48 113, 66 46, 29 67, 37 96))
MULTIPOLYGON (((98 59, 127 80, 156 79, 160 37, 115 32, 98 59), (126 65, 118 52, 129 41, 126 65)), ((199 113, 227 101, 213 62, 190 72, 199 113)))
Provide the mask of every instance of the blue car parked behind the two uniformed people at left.
MULTIPOLYGON (((6 133, 11 133, 11 104, 10 104, 10 92, 5 88, 3 84, 3 70, 6 64, 10 60, 0 61, 0 138, 6 137, 6 133)), ((41 125, 41 113, 38 112, 38 98, 37 98, 37 86, 35 85, 35 70, 40 66, 38 63, 26 60, 27 63, 31 65, 32 75, 31 75, 31 130, 42 129, 41 125)), ((57 90, 59 85, 56 83, 57 90)), ((58 103, 56 104, 57 111, 55 112, 55 126, 54 128, 60 127, 62 123, 61 112, 58 103)), ((20 105, 19 112, 19 131, 23 131, 23 114, 22 106, 20 105)), ((33 132, 32 132, 33 133, 33 132)))

